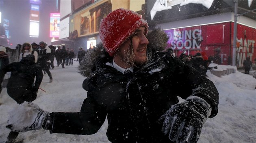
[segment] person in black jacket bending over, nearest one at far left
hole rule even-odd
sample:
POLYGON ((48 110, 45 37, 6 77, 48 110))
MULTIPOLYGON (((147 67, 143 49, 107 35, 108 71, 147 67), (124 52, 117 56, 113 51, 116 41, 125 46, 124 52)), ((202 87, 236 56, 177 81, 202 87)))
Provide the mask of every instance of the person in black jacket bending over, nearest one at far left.
MULTIPOLYGON (((18 104, 22 104, 25 101, 34 101, 37 98, 37 91, 43 79, 42 69, 35 63, 35 56, 27 55, 20 62, 13 62, 6 65, 0 70, 0 79, 10 71, 11 77, 7 84, 8 95, 18 104)), ((0 80, 1 83, 2 80, 0 80)), ((11 131, 6 143, 14 143, 18 135, 19 132, 11 131)))

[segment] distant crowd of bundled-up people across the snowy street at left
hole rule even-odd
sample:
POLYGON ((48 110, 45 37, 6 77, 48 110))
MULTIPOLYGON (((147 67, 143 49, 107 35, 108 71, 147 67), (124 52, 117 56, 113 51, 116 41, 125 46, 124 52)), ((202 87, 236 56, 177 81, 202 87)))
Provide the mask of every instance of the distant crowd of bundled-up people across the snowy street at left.
POLYGON ((86 51, 79 47, 79 52, 74 53, 73 48, 66 48, 66 46, 54 46, 49 45, 46 42, 39 42, 39 44, 33 42, 24 44, 17 44, 15 49, 0 46, 0 69, 9 63, 22 61, 22 59, 28 55, 34 55, 35 63, 37 63, 44 74, 48 74, 51 83, 53 78, 50 69, 54 69, 55 66, 65 68, 65 66, 73 65, 74 59, 77 57, 77 61, 81 62, 82 58, 86 55, 86 51), (7 50, 11 50, 7 51, 7 50), (9 54, 7 54, 9 53, 9 54), (13 53, 15 53, 15 56, 13 53), (11 58, 10 60, 10 57, 11 58), (16 58, 17 57, 17 58, 16 58), (57 61, 57 65, 54 66, 54 59, 57 61))

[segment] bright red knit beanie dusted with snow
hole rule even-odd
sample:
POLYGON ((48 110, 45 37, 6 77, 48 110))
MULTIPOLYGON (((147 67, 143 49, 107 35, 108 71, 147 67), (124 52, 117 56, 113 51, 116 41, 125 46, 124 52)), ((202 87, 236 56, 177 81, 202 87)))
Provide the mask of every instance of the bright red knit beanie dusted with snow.
POLYGON ((134 11, 119 8, 100 21, 100 39, 108 54, 113 57, 127 38, 141 27, 148 32, 148 23, 134 11))

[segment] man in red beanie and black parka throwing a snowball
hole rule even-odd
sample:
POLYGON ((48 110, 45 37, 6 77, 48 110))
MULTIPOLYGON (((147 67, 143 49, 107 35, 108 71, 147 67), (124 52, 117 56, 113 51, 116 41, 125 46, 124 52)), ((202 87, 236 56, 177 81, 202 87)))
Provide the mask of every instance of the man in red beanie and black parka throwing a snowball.
POLYGON ((133 11, 108 14, 100 24, 102 43, 79 66, 88 91, 80 112, 48 113, 31 105, 37 110, 30 113, 44 122, 22 131, 91 135, 107 117, 112 143, 197 142, 206 119, 218 112, 218 91, 197 70, 159 50, 166 46, 165 32, 149 32, 147 37, 165 37, 151 42, 147 33, 148 23, 133 11), (178 103, 177 96, 186 100, 178 103))

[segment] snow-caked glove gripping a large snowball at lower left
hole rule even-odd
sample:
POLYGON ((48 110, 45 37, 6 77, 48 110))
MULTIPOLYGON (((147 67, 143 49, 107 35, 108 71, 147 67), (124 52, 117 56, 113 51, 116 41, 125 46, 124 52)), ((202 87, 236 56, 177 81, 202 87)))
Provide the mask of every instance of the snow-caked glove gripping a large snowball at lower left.
POLYGON ((24 102, 9 113, 7 128, 17 132, 39 130, 45 124, 48 114, 35 103, 24 102))

